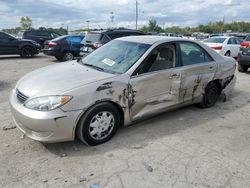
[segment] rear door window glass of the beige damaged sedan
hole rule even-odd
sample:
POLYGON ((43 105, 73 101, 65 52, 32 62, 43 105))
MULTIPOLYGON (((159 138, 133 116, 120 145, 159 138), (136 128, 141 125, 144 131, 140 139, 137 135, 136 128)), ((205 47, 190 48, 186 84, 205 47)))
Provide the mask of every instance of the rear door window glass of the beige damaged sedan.
POLYGON ((182 42, 180 50, 183 66, 213 61, 208 53, 197 44, 182 42))

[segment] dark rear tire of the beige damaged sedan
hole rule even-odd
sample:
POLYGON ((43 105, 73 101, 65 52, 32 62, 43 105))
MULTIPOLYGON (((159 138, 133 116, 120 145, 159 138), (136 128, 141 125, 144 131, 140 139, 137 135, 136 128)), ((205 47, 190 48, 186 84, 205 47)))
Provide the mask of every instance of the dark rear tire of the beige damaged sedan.
POLYGON ((205 94, 203 96, 202 101, 199 104, 201 108, 210 108, 215 105, 217 99, 219 97, 219 86, 214 82, 210 82, 206 89, 205 94))

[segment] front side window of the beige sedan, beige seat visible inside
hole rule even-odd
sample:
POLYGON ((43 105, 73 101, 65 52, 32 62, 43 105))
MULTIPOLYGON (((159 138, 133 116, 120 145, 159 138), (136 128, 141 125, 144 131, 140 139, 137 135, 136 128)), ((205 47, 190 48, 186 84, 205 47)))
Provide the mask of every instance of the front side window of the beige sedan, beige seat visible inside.
POLYGON ((161 71, 175 66, 175 45, 168 44, 154 49, 139 66, 136 74, 161 71))

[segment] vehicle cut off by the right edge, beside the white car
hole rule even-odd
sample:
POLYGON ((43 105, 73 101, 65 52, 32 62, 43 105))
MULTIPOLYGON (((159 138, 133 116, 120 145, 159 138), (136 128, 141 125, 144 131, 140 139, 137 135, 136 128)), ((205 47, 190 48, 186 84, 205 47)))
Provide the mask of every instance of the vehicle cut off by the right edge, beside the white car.
POLYGON ((242 47, 238 55, 238 71, 247 72, 250 67, 250 46, 242 47))

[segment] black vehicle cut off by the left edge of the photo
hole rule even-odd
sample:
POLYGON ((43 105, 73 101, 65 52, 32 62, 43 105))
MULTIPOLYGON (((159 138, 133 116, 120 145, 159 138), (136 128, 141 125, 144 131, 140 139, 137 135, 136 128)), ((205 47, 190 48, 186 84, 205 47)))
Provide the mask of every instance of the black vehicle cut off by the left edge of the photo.
POLYGON ((22 57, 33 57, 40 49, 40 45, 35 41, 16 39, 0 32, 0 55, 20 54, 22 57))

